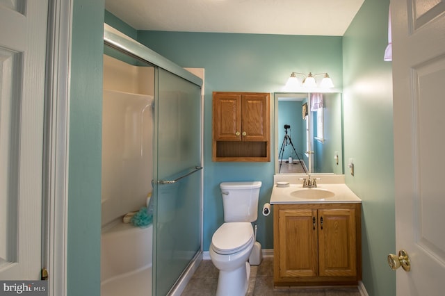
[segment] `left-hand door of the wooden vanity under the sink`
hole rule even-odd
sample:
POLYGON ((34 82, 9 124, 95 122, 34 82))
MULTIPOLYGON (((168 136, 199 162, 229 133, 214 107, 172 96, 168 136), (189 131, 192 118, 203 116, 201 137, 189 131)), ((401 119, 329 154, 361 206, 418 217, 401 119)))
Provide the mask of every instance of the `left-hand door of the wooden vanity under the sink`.
POLYGON ((280 277, 316 277, 316 210, 280 209, 280 277))

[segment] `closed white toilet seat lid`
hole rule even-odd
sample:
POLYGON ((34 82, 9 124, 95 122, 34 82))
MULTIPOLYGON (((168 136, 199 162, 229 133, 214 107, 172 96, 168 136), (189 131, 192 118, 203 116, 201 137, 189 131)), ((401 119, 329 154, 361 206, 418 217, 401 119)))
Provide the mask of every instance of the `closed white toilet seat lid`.
POLYGON ((226 222, 213 233, 211 247, 218 254, 234 254, 254 240, 250 222, 226 222))

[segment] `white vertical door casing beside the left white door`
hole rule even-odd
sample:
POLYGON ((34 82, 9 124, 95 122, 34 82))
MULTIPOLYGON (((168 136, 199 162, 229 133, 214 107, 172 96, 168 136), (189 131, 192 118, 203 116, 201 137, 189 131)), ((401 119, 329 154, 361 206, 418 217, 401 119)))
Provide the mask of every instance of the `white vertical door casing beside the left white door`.
POLYGON ((50 0, 44 133, 43 264, 49 295, 67 295, 67 204, 70 125, 72 0, 50 0))

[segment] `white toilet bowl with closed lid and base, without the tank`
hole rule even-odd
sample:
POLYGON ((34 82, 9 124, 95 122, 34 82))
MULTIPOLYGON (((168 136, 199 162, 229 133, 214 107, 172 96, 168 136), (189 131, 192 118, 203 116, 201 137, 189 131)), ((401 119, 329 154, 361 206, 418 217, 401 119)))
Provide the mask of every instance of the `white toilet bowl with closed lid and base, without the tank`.
POLYGON ((254 245, 250 222, 226 222, 213 234, 209 254, 218 268, 217 296, 245 295, 248 290, 248 258, 254 245))

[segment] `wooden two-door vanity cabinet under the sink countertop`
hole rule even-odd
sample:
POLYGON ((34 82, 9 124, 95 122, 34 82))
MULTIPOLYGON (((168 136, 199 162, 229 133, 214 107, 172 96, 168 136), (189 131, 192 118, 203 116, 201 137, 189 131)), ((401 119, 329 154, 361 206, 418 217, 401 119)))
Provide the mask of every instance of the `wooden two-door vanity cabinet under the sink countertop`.
POLYGON ((275 204, 275 286, 357 285, 360 204, 275 204))

